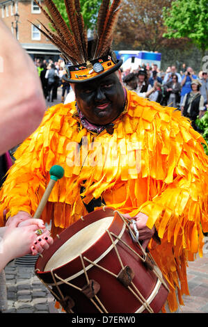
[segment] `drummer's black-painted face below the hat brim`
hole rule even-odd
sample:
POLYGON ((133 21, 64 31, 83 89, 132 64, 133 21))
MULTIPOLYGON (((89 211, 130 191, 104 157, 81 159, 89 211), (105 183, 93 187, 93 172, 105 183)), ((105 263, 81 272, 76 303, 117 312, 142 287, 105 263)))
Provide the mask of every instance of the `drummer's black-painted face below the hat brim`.
POLYGON ((125 93, 117 74, 75 84, 77 105, 86 119, 95 125, 106 125, 122 112, 125 93))

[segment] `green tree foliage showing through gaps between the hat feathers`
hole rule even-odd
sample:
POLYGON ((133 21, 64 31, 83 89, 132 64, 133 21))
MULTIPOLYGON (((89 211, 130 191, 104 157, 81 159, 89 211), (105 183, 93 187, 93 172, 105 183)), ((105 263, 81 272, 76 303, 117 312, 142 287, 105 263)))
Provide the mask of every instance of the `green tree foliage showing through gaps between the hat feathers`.
MULTIPOLYGON (((67 12, 65 10, 64 0, 53 0, 65 22, 68 22, 67 12)), ((102 0, 80 0, 81 13, 85 26, 88 29, 94 29, 99 6, 102 0)))

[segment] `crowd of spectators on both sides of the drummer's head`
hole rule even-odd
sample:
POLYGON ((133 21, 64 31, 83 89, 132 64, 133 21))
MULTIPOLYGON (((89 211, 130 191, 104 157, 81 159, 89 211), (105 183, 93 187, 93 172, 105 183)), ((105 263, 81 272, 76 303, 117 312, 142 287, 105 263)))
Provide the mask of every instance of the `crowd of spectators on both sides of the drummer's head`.
MULTIPOLYGON (((57 99, 58 87, 61 87, 61 101, 64 103, 74 99, 70 83, 67 82, 63 59, 54 62, 35 58, 35 66, 42 83, 45 99, 53 102, 57 99), (72 91, 72 92, 70 92, 72 91), (70 93, 70 94, 69 94, 70 93)), ((121 68, 122 71, 122 68, 121 68)), ((175 65, 166 72, 158 65, 139 66, 137 70, 122 71, 122 81, 128 90, 134 90, 139 96, 147 97, 162 106, 172 106, 192 121, 194 129, 198 129, 195 120, 207 111, 208 75, 207 72, 195 74, 191 67, 184 63, 182 70, 177 72, 175 65)))

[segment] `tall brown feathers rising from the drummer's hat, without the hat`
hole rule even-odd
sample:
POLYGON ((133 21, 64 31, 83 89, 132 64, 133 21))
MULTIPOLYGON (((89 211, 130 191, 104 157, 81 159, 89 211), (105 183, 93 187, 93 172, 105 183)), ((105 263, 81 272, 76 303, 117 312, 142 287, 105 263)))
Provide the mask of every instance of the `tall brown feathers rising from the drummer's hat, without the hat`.
POLYGON ((64 0, 70 28, 68 28, 54 2, 52 0, 45 0, 44 2, 49 13, 40 5, 38 0, 35 0, 35 3, 41 8, 42 13, 47 17, 56 33, 49 31, 42 23, 40 24, 45 31, 37 25, 31 24, 61 50, 66 61, 71 61, 73 65, 76 65, 93 58, 99 58, 109 52, 113 42, 113 31, 118 21, 122 0, 113 0, 111 6, 110 0, 102 0, 97 17, 91 54, 88 54, 87 28, 84 26, 83 16, 81 15, 80 0, 64 0))

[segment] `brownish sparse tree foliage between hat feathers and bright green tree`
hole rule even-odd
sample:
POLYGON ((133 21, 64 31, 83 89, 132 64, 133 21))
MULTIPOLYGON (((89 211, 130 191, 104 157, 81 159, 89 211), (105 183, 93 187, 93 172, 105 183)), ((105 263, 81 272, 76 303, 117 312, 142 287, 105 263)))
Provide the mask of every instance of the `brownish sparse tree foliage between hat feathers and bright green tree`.
POLYGON ((170 0, 123 0, 117 29, 115 46, 123 49, 158 51, 161 48, 178 48, 184 39, 164 38, 163 6, 170 8, 170 0))

